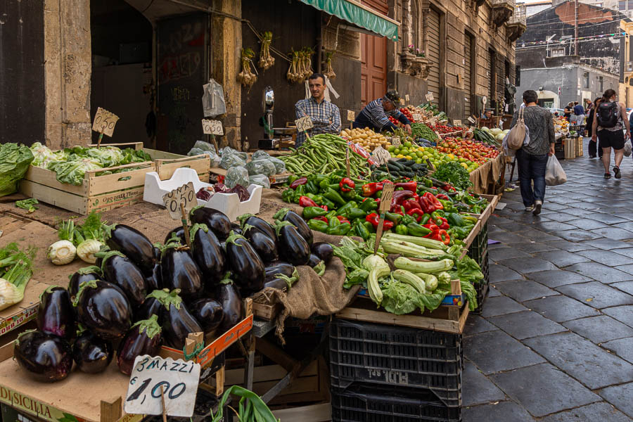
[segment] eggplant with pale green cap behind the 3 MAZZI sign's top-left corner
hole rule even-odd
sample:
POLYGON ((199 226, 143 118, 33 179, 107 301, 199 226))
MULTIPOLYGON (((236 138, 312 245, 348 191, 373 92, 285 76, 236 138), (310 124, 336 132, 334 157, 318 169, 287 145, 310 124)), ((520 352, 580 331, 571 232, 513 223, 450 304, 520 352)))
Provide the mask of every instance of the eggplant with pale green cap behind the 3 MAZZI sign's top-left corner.
POLYGON ((143 319, 129 328, 117 350, 117 366, 122 373, 125 375, 132 373, 134 359, 137 356, 158 355, 162 343, 161 331, 156 315, 143 319))

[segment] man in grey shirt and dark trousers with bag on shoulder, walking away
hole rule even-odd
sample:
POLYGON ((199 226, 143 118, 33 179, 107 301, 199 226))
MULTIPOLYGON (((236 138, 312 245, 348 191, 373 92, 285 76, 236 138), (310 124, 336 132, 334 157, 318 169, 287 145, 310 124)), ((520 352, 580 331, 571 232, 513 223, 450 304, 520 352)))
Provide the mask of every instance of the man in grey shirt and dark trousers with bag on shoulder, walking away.
MULTIPOLYGON (((554 120, 546 108, 537 105, 538 94, 532 89, 523 93, 523 120, 530 133, 530 142, 516 151, 521 198, 526 211, 539 215, 545 198, 545 167, 547 156, 554 154, 554 120), (534 188, 532 188, 534 182, 534 188)), ((514 113, 510 128, 517 122, 514 113)))

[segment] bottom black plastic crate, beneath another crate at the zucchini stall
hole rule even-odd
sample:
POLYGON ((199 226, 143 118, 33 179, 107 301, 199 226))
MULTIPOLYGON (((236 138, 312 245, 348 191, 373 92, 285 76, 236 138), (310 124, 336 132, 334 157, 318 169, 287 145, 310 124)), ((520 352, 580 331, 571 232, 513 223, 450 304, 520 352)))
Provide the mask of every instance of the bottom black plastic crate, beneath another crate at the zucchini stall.
POLYGON ((460 422, 461 407, 447 407, 428 390, 357 383, 332 390, 333 422, 460 422))

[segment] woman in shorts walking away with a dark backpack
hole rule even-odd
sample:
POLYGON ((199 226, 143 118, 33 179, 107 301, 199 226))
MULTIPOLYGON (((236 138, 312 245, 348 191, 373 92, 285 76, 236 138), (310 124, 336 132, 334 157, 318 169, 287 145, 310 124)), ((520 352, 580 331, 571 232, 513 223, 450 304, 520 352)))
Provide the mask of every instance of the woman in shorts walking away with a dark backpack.
POLYGON ((613 166, 613 174, 615 179, 620 179, 620 163, 624 157, 625 135, 622 133, 624 129, 627 132, 626 139, 631 137, 629 120, 627 119, 627 109, 624 104, 615 101, 618 94, 613 89, 607 89, 600 101, 596 103, 596 112, 594 122, 592 122, 592 141, 600 138, 600 146, 602 148, 602 163, 604 165, 604 178, 609 179, 609 165, 611 162, 611 148, 615 150, 615 166, 613 166))

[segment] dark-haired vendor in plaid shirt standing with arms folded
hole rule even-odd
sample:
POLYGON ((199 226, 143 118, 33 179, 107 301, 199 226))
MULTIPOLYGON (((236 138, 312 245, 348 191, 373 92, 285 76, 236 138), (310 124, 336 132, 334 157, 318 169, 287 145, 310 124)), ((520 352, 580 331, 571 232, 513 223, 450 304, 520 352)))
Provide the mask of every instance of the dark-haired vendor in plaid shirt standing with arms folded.
MULTIPOLYGON (((306 100, 299 100, 295 104, 295 115, 300 119, 308 116, 312 119, 314 128, 310 129, 309 135, 316 134, 340 134, 340 111, 333 103, 326 101, 325 96, 325 76, 321 73, 314 73, 308 78, 310 94, 312 96, 306 100)), ((305 142, 305 134, 301 132, 297 135, 295 148, 299 148, 305 142)))

